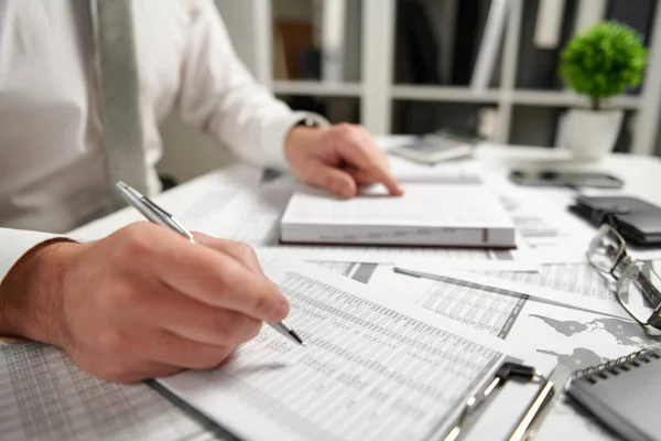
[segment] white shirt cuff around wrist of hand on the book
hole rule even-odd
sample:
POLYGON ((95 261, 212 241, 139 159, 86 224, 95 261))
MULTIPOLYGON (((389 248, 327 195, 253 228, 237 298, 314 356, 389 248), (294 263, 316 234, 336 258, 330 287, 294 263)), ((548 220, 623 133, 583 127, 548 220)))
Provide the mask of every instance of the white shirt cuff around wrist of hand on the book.
POLYGON ((266 164, 278 170, 288 170, 289 163, 284 157, 284 141, 289 132, 299 122, 306 118, 312 119, 319 127, 329 127, 330 122, 318 114, 308 111, 294 111, 277 121, 262 132, 262 146, 264 146, 266 164))

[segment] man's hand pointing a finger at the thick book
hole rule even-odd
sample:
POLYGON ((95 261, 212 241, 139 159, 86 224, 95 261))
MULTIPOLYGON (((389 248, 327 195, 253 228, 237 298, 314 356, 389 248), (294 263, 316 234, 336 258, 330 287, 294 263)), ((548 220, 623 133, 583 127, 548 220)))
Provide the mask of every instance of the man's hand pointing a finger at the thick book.
POLYGON ((393 196, 403 193, 386 153, 360 126, 294 127, 284 153, 299 180, 338 196, 353 197, 358 186, 373 183, 383 184, 393 196))

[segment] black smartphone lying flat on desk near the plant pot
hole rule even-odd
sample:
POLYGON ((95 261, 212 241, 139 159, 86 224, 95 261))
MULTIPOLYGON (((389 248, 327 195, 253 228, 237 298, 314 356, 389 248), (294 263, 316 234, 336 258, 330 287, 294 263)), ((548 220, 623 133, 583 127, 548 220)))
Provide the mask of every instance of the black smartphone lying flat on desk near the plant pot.
POLYGON ((606 173, 514 170, 510 180, 519 185, 621 189, 624 182, 606 173))

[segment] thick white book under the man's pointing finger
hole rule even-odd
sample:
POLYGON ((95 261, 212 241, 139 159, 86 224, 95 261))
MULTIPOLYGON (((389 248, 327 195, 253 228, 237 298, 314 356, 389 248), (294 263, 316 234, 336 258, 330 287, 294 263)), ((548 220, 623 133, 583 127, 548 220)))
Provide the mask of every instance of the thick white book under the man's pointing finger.
POLYGON ((401 197, 372 186, 342 200, 296 191, 281 219, 280 239, 303 244, 364 244, 513 248, 514 225, 483 185, 408 184, 401 197))

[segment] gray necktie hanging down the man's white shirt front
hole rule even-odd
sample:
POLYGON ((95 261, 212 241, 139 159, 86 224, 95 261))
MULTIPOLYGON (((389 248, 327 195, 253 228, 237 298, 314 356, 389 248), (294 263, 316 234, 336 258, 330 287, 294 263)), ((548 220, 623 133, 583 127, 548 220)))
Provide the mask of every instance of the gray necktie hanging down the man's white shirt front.
POLYGON ((115 191, 117 181, 148 194, 131 0, 97 0, 96 11, 104 147, 110 191, 121 207, 126 203, 115 191))

